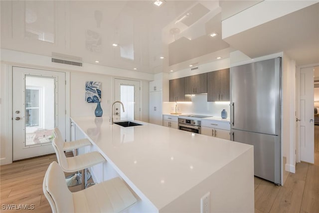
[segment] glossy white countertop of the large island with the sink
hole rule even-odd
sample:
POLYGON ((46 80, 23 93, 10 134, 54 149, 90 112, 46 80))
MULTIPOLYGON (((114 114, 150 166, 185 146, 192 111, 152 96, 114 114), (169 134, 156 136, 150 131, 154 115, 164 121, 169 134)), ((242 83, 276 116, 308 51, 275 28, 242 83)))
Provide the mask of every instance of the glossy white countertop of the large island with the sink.
POLYGON ((158 210, 252 149, 205 135, 143 123, 110 125, 107 117, 73 117, 141 199, 158 210))

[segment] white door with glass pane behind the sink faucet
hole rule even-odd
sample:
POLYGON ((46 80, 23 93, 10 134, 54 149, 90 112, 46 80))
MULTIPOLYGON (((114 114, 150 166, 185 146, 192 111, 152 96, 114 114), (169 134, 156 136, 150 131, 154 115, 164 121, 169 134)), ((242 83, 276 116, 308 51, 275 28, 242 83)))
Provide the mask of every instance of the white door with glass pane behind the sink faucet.
POLYGON ((115 79, 114 101, 121 101, 125 112, 119 103, 114 104, 113 119, 140 120, 140 81, 115 79))

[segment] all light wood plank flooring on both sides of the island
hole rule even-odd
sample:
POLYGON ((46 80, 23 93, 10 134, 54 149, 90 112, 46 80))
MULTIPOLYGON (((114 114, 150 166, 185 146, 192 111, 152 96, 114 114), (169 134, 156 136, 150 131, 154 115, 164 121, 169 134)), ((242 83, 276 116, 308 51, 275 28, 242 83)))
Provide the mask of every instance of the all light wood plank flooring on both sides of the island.
MULTIPOLYGON (((34 204, 35 210, 25 212, 50 213, 42 181, 52 161, 56 161, 55 155, 0 166, 0 204, 34 204)), ((71 191, 79 191, 80 187, 72 187, 71 191)), ((269 212, 319 213, 319 166, 297 164, 296 174, 290 173, 283 187, 255 177, 255 213, 269 212)))

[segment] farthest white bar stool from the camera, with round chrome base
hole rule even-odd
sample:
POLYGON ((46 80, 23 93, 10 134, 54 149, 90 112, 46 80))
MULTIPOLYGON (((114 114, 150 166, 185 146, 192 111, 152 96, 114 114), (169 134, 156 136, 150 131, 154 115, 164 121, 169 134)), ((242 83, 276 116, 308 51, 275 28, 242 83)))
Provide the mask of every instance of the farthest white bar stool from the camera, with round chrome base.
MULTIPOLYGON (((53 133, 58 140, 63 141, 61 132, 58 128, 54 128, 53 133)), ((74 150, 74 156, 77 156, 78 152, 79 152, 79 150, 78 150, 79 148, 82 148, 85 146, 90 146, 90 145, 92 145, 92 144, 87 138, 75 140, 75 141, 70 141, 70 142, 65 142, 63 144, 63 151, 73 151, 74 150)), ((90 179, 90 176, 88 176, 87 179, 90 179)), ((82 174, 79 171, 77 171, 76 173, 66 177, 65 181, 66 181, 66 185, 68 187, 74 187, 74 186, 80 185, 80 184, 82 184, 82 174)))

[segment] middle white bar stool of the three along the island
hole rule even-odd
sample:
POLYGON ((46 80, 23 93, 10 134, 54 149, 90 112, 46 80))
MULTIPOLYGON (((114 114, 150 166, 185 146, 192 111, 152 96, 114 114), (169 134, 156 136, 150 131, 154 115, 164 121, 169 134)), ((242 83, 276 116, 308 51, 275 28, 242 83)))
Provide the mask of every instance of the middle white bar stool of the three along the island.
POLYGON ((82 189, 85 189, 87 187, 85 169, 103 163, 106 160, 96 151, 67 158, 63 152, 63 144, 64 142, 58 138, 54 138, 52 141, 58 163, 64 172, 72 173, 82 170, 82 189))

